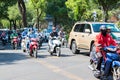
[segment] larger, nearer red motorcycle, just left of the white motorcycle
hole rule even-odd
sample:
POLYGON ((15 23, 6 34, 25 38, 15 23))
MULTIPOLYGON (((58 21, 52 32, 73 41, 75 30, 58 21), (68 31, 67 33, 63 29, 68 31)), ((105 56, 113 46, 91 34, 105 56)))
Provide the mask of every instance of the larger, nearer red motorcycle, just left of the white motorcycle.
POLYGON ((37 58, 38 40, 36 38, 30 39, 29 50, 30 50, 29 55, 37 58))

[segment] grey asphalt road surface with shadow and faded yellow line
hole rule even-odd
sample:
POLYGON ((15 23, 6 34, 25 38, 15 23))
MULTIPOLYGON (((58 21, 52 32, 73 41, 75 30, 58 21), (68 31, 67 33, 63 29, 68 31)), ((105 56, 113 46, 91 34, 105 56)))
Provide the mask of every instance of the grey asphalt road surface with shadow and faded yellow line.
POLYGON ((75 55, 62 48, 60 57, 50 56, 45 43, 37 59, 10 45, 0 50, 0 80, 97 80, 88 65, 87 51, 75 55))

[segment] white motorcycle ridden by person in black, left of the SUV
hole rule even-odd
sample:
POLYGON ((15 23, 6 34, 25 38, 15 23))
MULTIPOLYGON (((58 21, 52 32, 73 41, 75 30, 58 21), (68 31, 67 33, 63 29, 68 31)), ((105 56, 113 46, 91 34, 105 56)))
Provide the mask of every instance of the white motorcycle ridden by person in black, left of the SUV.
POLYGON ((55 53, 59 57, 61 54, 61 41, 60 41, 60 39, 58 37, 53 37, 50 40, 49 44, 52 44, 52 45, 48 45, 49 46, 48 52, 51 55, 53 55, 53 53, 55 53))

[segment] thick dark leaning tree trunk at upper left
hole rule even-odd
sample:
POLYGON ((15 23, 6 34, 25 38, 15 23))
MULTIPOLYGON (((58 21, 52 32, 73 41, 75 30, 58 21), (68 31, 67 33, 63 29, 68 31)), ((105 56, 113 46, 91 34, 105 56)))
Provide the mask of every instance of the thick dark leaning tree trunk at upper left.
POLYGON ((26 6, 23 0, 18 0, 18 8, 20 10, 20 14, 22 16, 22 22, 23 26, 27 26, 27 20, 26 20, 26 6))

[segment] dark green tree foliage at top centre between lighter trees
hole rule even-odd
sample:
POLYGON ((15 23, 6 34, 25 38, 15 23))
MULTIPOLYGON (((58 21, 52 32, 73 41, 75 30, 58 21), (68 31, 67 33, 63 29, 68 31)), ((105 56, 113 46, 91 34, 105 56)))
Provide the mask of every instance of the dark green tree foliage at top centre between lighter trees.
POLYGON ((66 23, 68 20, 68 13, 65 5, 66 0, 47 0, 47 2, 46 13, 53 17, 55 26, 59 23, 66 23))

